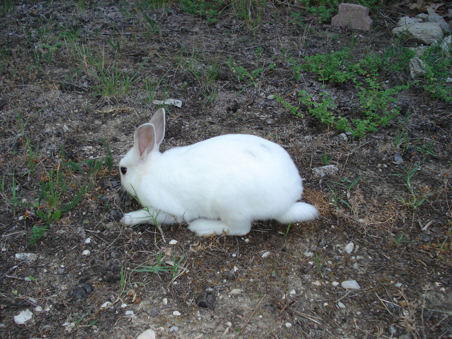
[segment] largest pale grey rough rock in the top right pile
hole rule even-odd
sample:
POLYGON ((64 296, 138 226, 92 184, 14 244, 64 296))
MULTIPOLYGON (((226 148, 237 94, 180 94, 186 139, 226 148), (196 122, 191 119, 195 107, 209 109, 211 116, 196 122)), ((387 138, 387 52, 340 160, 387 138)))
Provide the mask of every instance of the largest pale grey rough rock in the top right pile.
POLYGON ((420 19, 401 18, 392 33, 396 37, 404 37, 421 44, 431 45, 442 40, 442 28, 438 23, 416 22, 420 19))

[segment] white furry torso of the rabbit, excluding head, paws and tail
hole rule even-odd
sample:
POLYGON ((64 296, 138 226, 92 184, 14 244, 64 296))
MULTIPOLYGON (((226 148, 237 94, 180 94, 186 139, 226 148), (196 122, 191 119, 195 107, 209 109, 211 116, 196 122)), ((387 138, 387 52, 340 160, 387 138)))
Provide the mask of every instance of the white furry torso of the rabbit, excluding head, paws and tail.
POLYGON ((144 205, 180 221, 277 218, 303 192, 289 154, 252 135, 223 135, 170 149, 151 161, 139 187, 144 205))

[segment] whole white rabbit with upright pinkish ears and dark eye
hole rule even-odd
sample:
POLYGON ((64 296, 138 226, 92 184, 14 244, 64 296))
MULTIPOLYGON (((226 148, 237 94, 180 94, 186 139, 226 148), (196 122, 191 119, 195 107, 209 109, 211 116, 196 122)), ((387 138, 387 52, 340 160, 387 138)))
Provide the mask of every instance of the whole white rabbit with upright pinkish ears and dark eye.
POLYGON ((253 220, 282 223, 315 218, 299 202, 302 181, 289 154, 266 139, 222 135, 159 152, 165 110, 137 128, 134 147, 120 161, 121 182, 145 209, 124 215, 125 225, 187 222, 198 236, 243 236, 253 220))

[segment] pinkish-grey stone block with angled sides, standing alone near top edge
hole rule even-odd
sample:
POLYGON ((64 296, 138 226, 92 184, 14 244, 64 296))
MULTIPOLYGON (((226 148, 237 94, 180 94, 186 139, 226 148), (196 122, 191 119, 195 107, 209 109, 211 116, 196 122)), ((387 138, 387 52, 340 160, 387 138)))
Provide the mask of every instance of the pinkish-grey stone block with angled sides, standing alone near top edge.
POLYGON ((342 3, 337 15, 331 19, 331 26, 369 31, 372 27, 369 9, 361 5, 342 3))

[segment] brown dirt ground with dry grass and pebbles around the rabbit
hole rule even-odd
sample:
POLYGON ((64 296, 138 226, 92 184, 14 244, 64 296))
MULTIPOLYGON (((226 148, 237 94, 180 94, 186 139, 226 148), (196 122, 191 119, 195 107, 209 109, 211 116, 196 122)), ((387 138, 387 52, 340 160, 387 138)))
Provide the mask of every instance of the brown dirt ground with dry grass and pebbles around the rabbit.
MULTIPOLYGON (((371 11, 370 32, 292 8, 296 24, 287 5, 269 3, 255 34, 236 16, 206 23, 178 5, 14 5, 0 18, 0 337, 452 337, 450 104, 412 87, 397 96, 404 114, 353 138, 269 97, 323 90, 315 74, 295 80, 290 57, 352 40, 357 55, 386 48, 397 20, 419 13, 407 3, 371 11), (239 79, 240 66, 264 71, 239 79), (255 222, 244 237, 123 227, 139 205, 117 165, 164 98, 182 106, 166 106, 162 151, 228 133, 277 142, 321 216, 255 222), (338 171, 313 175, 326 162, 338 171), (401 165, 419 166, 410 180, 426 198, 415 209, 401 202, 401 165), (34 226, 48 229, 31 244, 34 226), (343 288, 349 280, 360 289, 343 288)), ((407 79, 388 71, 380 81, 407 79)), ((326 90, 344 111, 356 105, 354 87, 326 90)))

